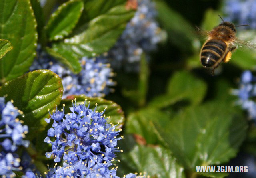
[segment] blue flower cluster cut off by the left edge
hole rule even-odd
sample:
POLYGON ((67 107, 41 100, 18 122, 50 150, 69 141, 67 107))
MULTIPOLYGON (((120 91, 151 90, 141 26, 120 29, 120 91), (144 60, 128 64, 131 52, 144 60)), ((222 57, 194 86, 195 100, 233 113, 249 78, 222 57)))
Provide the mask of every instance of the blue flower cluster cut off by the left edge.
POLYGON ((28 126, 22 125, 17 116, 22 114, 12 105, 13 101, 5 104, 4 97, 0 97, 0 142, 2 151, 0 152, 0 175, 5 177, 15 177, 13 171, 21 170, 20 158, 15 154, 17 146, 28 146, 29 142, 23 140, 25 134, 28 133, 28 126))

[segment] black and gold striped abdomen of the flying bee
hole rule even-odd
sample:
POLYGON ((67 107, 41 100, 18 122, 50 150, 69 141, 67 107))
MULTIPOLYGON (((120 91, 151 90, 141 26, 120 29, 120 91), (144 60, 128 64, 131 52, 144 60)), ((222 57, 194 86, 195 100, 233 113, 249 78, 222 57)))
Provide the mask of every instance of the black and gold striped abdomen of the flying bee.
POLYGON ((211 39, 202 47, 201 63, 204 67, 218 65, 223 59, 227 45, 222 40, 211 39))

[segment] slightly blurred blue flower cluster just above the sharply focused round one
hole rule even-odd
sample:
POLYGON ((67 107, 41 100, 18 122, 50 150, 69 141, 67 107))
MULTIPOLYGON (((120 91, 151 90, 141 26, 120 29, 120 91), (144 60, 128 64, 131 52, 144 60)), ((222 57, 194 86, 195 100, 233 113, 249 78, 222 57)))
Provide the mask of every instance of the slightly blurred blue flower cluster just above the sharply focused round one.
POLYGON ((58 62, 54 61, 44 52, 39 52, 38 60, 35 60, 30 71, 48 69, 62 78, 64 88, 63 98, 68 95, 85 94, 88 97, 104 97, 113 91, 109 88, 116 85, 110 77, 114 76, 110 64, 102 57, 80 60, 82 71, 74 74, 58 62))

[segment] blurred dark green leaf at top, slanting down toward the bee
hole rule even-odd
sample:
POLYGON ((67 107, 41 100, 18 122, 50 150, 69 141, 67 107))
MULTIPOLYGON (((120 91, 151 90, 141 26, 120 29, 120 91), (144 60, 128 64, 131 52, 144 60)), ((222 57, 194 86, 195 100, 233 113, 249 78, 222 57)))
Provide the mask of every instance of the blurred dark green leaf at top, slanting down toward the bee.
POLYGON ((158 21, 168 33, 170 42, 182 51, 192 51, 192 43, 196 38, 196 30, 178 12, 171 9, 163 0, 156 0, 158 21))

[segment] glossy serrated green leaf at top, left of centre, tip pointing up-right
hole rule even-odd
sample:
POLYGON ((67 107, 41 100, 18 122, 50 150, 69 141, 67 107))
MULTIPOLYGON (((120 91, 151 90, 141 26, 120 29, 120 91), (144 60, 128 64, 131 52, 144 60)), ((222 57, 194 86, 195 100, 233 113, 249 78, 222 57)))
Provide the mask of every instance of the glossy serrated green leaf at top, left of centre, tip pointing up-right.
POLYGON ((83 9, 84 4, 81 0, 69 0, 59 6, 46 25, 49 39, 59 40, 68 36, 76 26, 83 9))

